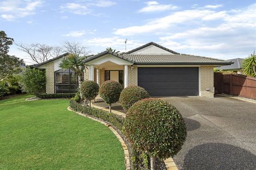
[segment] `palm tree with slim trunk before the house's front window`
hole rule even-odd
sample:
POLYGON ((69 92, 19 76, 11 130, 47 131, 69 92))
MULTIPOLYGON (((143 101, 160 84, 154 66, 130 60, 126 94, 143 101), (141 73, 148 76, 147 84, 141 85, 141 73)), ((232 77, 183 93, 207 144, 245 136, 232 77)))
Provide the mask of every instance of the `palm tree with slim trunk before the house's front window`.
POLYGON ((86 56, 79 56, 78 54, 69 54, 68 56, 63 58, 59 63, 59 67, 63 70, 70 69, 77 74, 79 89, 82 84, 83 73, 86 71, 86 65, 83 63, 83 60, 86 58, 86 56))

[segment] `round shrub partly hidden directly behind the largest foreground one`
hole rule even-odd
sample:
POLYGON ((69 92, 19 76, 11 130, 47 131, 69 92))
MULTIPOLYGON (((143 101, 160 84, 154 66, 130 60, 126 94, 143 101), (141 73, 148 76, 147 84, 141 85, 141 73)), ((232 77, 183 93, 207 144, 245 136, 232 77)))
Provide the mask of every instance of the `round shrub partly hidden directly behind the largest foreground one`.
POLYGON ((124 109, 130 109, 138 100, 149 98, 149 93, 138 86, 128 86, 120 94, 119 102, 124 109))

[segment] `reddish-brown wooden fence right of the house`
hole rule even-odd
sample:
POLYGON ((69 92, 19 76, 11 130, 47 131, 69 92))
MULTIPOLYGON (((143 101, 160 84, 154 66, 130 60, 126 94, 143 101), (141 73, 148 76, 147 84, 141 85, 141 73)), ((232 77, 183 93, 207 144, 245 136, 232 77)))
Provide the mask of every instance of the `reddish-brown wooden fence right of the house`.
POLYGON ((214 73, 214 88, 215 94, 227 93, 228 95, 256 99, 256 78, 214 73))

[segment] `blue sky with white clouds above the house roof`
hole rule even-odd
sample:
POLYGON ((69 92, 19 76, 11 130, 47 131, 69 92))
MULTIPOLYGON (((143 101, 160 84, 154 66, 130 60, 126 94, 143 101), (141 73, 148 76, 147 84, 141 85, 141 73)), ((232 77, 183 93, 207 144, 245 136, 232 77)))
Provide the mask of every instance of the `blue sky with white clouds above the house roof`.
MULTIPOLYGON (((81 42, 92 53, 154 41, 173 51, 245 58, 256 47, 255 1, 3 0, 0 30, 15 42, 81 42)), ((10 54, 26 58, 15 45, 10 54)), ((26 59, 27 62, 29 60, 26 59)))

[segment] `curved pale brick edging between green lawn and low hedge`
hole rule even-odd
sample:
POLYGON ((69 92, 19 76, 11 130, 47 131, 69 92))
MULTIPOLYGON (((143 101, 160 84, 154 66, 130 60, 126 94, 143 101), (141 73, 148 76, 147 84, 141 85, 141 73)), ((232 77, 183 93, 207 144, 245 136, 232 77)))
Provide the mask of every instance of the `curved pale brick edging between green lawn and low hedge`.
POLYGON ((77 114, 79 114, 79 115, 81 115, 81 116, 90 118, 90 119, 92 119, 93 121, 100 122, 101 124, 104 124, 106 127, 108 127, 108 128, 113 132, 113 134, 118 138, 119 142, 121 143, 121 146, 122 146, 123 149, 124 149, 125 169, 126 169, 126 170, 130 170, 130 169, 131 169, 129 149, 128 149, 128 147, 127 147, 125 141, 123 140, 123 138, 122 138, 122 137, 119 135, 119 133, 117 132, 117 130, 115 130, 110 124, 108 124, 108 123, 106 123, 106 122, 104 122, 104 121, 101 121, 100 119, 97 119, 97 118, 94 118, 93 116, 86 115, 86 114, 82 114, 81 112, 77 112, 77 111, 72 110, 70 106, 68 106, 67 109, 68 109, 69 111, 76 112, 77 114))

